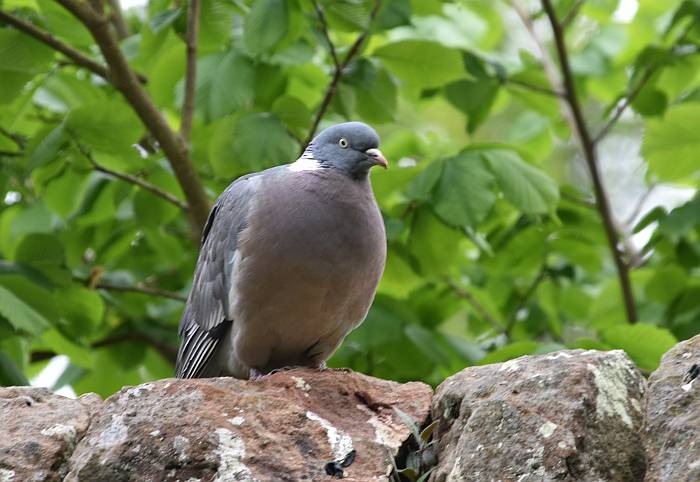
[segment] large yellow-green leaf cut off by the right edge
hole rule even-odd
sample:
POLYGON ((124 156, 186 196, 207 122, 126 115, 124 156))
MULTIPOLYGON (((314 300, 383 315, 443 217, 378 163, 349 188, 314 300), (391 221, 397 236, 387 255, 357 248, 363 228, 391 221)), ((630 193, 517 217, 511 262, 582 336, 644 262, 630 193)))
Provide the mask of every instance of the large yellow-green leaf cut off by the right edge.
POLYGON ((700 170, 700 103, 679 104, 662 119, 647 120, 642 154, 663 181, 679 181, 700 170))

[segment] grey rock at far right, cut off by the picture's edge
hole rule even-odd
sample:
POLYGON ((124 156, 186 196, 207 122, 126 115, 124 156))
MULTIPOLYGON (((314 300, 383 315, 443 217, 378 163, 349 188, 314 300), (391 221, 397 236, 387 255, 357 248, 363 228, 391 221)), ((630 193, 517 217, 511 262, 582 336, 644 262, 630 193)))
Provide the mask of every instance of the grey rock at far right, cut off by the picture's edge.
POLYGON ((666 353, 646 397, 648 482, 700 480, 700 335, 666 353))

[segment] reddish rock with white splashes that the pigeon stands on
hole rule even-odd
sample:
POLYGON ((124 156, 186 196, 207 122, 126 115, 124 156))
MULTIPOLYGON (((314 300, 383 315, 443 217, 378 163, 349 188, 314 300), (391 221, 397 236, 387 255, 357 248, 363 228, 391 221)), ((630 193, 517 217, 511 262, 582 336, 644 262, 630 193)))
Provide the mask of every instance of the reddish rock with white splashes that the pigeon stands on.
POLYGON ((124 388, 93 420, 66 480, 316 481, 330 480, 327 470, 388 480, 410 437, 394 407, 421 424, 431 396, 422 383, 307 369, 124 388))

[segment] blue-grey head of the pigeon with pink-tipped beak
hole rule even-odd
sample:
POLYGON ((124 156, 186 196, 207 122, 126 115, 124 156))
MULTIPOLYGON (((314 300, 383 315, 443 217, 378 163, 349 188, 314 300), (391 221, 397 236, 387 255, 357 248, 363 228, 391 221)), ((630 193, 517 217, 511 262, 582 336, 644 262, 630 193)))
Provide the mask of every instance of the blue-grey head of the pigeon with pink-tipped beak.
POLYGON ((387 168, 379 147, 379 136, 367 124, 345 122, 317 135, 308 150, 320 167, 339 169, 353 179, 367 177, 372 166, 387 168))

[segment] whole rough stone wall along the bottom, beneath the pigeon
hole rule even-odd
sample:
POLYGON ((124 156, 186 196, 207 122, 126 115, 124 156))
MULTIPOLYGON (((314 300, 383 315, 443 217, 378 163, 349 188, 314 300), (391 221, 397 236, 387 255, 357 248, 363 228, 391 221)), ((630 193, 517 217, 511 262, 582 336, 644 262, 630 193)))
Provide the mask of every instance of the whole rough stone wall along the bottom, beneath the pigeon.
POLYGON ((649 380, 621 351, 571 350, 469 367, 435 393, 306 369, 105 401, 0 388, 0 482, 398 480, 406 464, 402 480, 698 482, 699 372, 696 336, 649 380))

